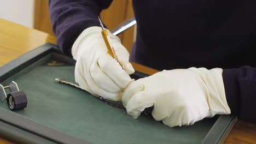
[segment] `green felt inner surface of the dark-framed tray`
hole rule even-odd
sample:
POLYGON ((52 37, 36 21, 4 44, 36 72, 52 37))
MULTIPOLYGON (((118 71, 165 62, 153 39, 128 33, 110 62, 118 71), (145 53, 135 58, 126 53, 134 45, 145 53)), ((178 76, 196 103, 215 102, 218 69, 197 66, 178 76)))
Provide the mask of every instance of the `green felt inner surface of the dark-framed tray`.
MULTIPOLYGON (((61 76, 74 82, 74 66, 45 64, 51 60, 45 57, 1 83, 14 80, 27 94, 27 107, 15 113, 66 134, 91 143, 201 143, 216 121, 207 118, 191 126, 169 128, 150 115, 133 119, 124 109, 54 82, 61 76)), ((9 110, 6 101, 0 107, 9 110)))

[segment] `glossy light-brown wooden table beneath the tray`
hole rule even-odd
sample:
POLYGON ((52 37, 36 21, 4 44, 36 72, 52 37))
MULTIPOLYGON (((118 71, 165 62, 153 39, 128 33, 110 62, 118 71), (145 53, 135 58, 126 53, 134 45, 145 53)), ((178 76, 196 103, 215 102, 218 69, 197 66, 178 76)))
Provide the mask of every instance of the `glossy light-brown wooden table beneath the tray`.
MULTIPOLYGON (((36 29, 0 19, 0 67, 45 43, 56 44, 56 38, 36 29)), ((132 65, 136 70, 146 74, 157 72, 136 63, 132 65)), ((0 143, 13 144, 14 142, 0 136, 0 143)), ((224 143, 256 143, 256 124, 238 121, 224 143)))

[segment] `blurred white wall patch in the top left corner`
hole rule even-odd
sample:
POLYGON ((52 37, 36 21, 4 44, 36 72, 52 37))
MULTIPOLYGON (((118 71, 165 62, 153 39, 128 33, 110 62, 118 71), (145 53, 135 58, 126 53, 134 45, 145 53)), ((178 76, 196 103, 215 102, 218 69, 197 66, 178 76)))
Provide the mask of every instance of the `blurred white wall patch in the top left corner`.
POLYGON ((33 8, 34 0, 0 0, 0 19, 33 28, 33 8))

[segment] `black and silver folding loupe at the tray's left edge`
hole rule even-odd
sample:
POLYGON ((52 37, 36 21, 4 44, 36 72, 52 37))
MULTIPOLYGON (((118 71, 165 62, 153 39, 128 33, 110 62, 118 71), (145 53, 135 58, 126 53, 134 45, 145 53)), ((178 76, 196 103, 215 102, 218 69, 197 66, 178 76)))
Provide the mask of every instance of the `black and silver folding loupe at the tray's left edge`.
POLYGON ((18 110, 27 107, 27 95, 20 91, 16 82, 12 81, 9 86, 3 87, 0 84, 0 101, 7 99, 7 104, 10 110, 18 110), (9 88, 10 93, 6 94, 5 88, 9 88))

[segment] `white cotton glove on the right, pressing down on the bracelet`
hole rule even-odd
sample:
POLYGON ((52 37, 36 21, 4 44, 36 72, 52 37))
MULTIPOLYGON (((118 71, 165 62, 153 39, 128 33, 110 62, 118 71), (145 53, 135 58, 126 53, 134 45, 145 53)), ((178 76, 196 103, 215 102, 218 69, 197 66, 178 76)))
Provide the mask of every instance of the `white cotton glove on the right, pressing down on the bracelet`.
POLYGON ((230 113, 220 68, 164 70, 131 82, 122 100, 133 118, 154 106, 154 119, 169 127, 230 113))

